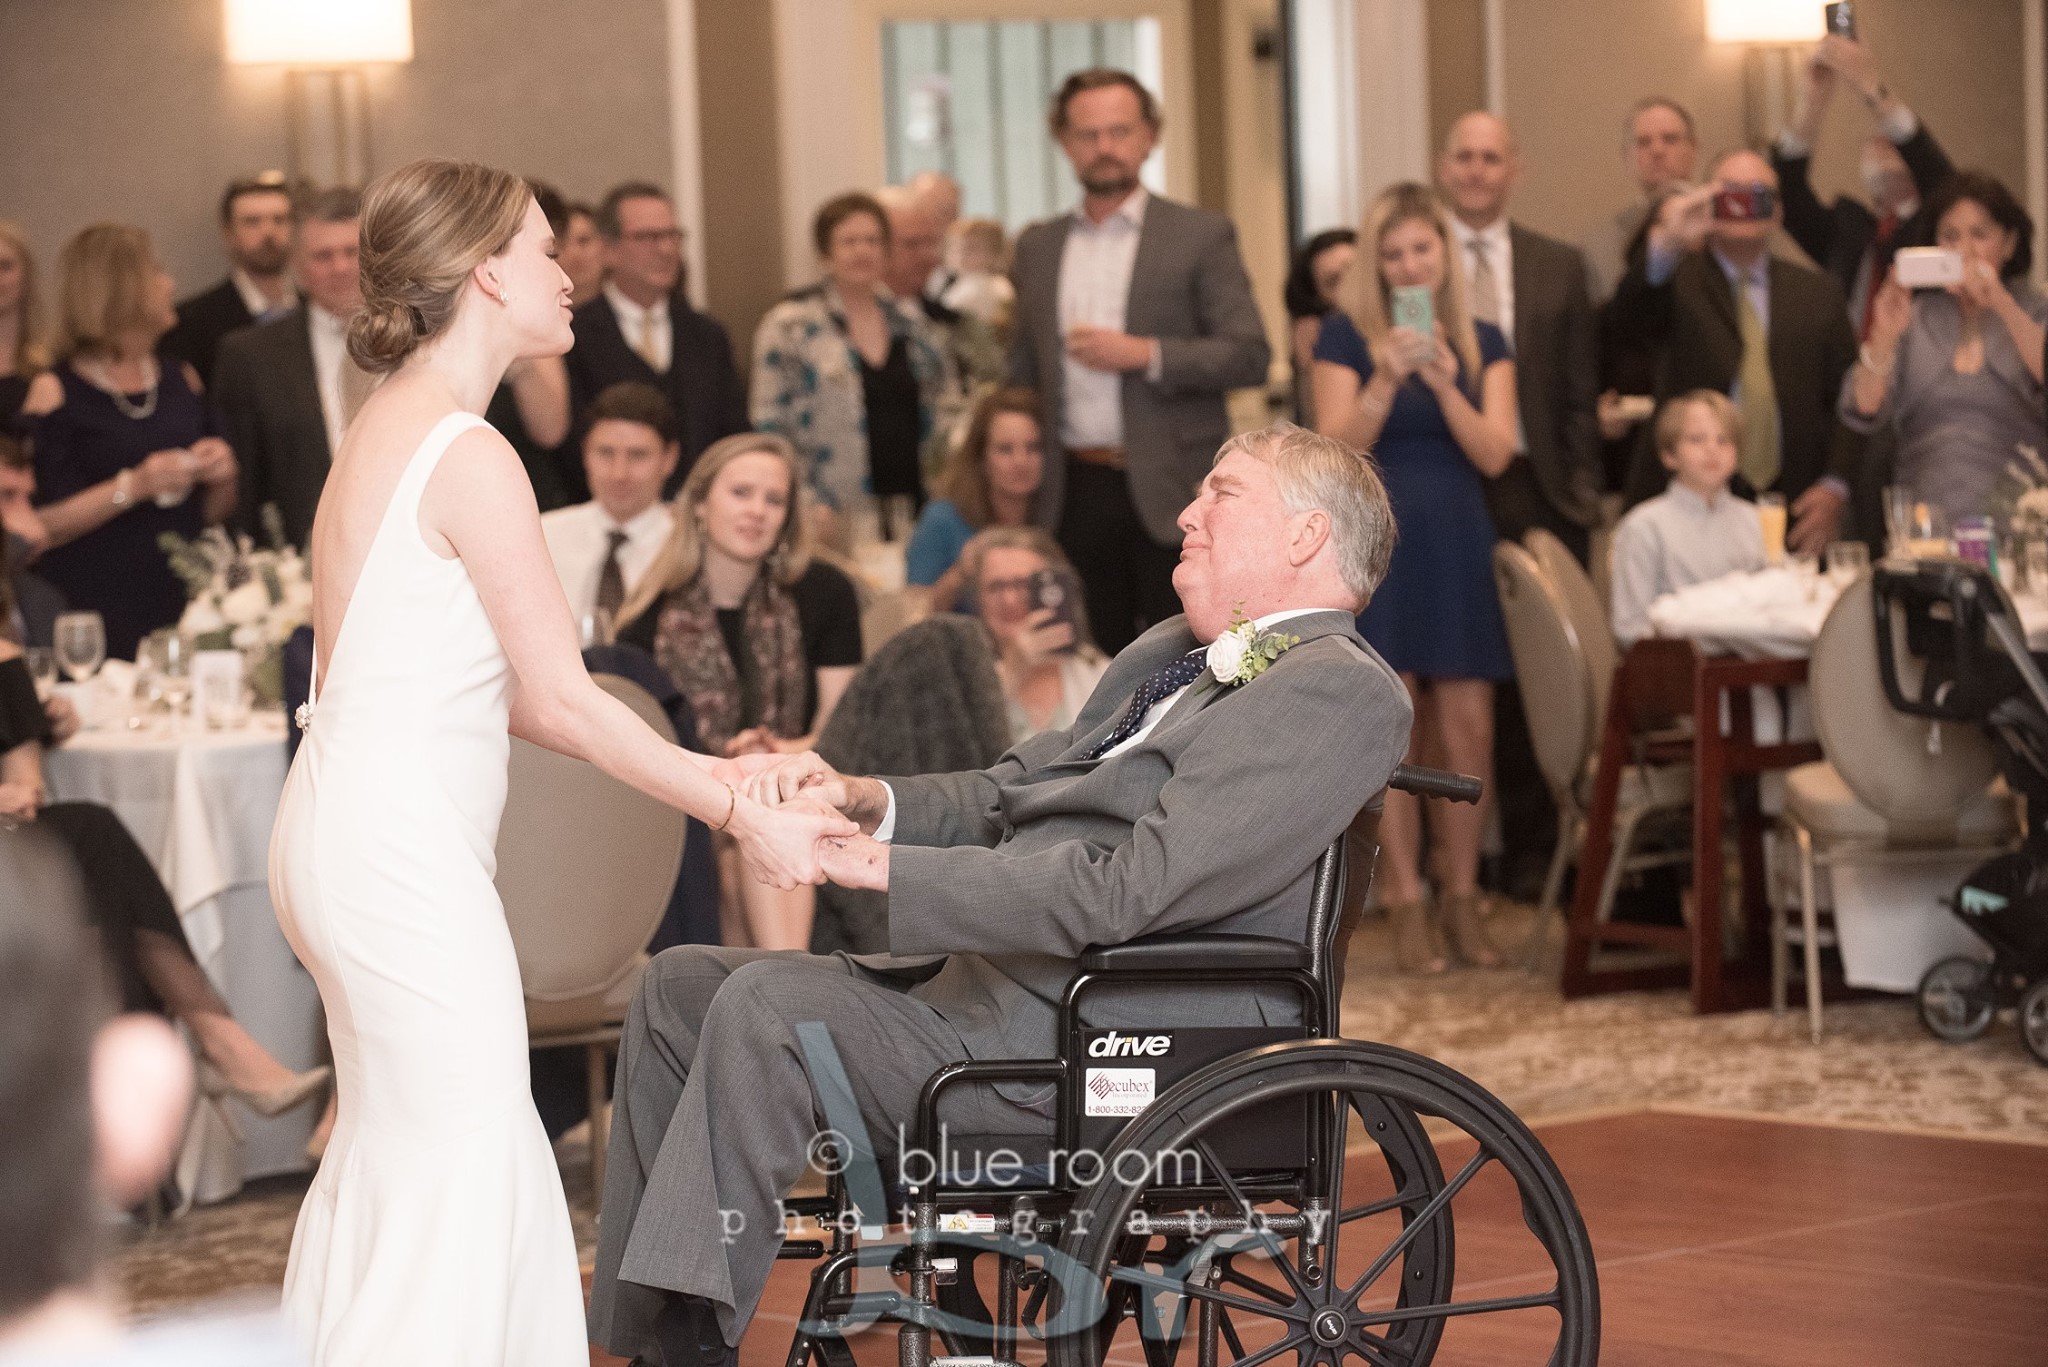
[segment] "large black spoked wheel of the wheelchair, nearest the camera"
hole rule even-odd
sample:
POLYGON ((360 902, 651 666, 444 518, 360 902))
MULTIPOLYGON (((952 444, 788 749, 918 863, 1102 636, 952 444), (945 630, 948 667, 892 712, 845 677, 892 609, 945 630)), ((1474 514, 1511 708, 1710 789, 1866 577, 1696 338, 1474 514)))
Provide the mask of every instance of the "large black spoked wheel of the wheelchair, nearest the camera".
POLYGON ((1104 1287, 1104 1316, 1053 1338, 1051 1367, 1100 1367, 1124 1320, 1147 1365, 1167 1367, 1190 1316, 1200 1367, 1421 1367, 1440 1349, 1550 1367, 1599 1357, 1593 1250, 1565 1178, 1505 1105, 1417 1053, 1317 1039, 1221 1060, 1135 1119, 1104 1172, 1061 1240, 1071 1275, 1104 1287), (1309 1101, 1331 1158, 1276 1197, 1219 1162, 1210 1137, 1290 1096, 1309 1101), (1401 1123, 1417 1115, 1448 1123, 1421 1146, 1427 1160, 1401 1123), (1456 1164, 1448 1180, 1438 1152, 1456 1164), (1153 1180, 1159 1154, 1198 1156, 1202 1185, 1153 1180), (1479 1267, 1468 1242, 1456 1269, 1466 1295, 1452 1289, 1456 1215, 1485 1232, 1479 1267), (1147 1230, 1184 1242, 1147 1248, 1147 1230))

